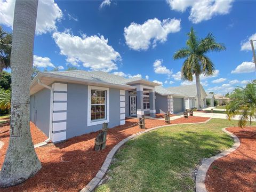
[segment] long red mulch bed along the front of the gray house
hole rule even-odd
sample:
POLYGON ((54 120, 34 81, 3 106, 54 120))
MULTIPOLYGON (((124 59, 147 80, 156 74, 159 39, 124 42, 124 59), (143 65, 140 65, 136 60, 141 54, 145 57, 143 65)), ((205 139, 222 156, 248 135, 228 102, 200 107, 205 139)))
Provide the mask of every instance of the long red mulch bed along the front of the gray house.
MULTIPOLYGON (((206 117, 179 118, 174 123, 205 122, 206 117)), ((121 140, 134 133, 141 132, 138 125, 126 128, 137 119, 127 119, 125 125, 108 130, 107 147, 103 151, 94 151, 94 139, 99 132, 74 137, 56 145, 49 144, 36 148, 42 169, 32 178, 18 186, 1 189, 3 191, 79 191, 84 188, 100 170, 109 151, 121 140)), ((146 119, 146 129, 166 125, 163 120, 146 119)), ((4 149, 6 150, 6 148, 4 149)), ((1 149, 1 153, 5 151, 1 149)), ((3 157, 0 159, 3 164, 3 157)))

